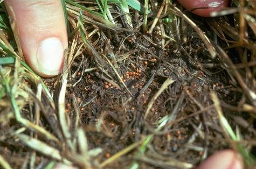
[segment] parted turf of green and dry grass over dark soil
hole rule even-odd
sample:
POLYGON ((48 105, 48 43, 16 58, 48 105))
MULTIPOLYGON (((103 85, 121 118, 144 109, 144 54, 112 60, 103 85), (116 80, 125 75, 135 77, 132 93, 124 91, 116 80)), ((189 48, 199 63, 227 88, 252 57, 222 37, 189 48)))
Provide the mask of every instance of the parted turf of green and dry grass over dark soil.
POLYGON ((1 167, 193 168, 226 147, 255 165, 252 2, 204 19, 176 1, 62 4, 70 45, 52 79, 26 65, 2 6, 1 167))

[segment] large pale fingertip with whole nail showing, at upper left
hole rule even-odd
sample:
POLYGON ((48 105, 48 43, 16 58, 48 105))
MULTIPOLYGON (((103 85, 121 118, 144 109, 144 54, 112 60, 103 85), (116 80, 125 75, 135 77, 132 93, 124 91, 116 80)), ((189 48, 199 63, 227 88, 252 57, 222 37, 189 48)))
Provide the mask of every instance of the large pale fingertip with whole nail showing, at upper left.
POLYGON ((60 0, 4 1, 16 27, 27 64, 38 75, 58 75, 67 48, 65 17, 60 0))

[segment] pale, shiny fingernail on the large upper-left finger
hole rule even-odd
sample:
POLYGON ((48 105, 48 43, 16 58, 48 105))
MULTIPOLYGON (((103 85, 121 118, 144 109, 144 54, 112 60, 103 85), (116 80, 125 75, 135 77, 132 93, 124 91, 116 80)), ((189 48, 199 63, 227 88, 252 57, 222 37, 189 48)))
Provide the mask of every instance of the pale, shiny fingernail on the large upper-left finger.
POLYGON ((54 76, 63 68, 64 47, 58 38, 47 38, 37 51, 37 61, 41 73, 54 76))

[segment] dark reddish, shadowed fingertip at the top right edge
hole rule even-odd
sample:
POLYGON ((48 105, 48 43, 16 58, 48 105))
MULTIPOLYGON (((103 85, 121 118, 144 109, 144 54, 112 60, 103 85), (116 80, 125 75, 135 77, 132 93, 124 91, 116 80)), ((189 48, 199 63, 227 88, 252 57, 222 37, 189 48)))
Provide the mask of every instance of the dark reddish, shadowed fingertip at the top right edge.
POLYGON ((196 9, 196 8, 202 8, 202 9, 196 9, 192 10, 192 13, 195 13, 196 15, 202 16, 202 17, 210 17, 210 13, 216 10, 219 10, 223 7, 226 7, 229 4, 229 0, 197 0, 197 1, 191 1, 191 0, 177 0, 184 8, 190 10, 190 9, 196 9))

